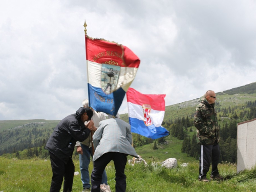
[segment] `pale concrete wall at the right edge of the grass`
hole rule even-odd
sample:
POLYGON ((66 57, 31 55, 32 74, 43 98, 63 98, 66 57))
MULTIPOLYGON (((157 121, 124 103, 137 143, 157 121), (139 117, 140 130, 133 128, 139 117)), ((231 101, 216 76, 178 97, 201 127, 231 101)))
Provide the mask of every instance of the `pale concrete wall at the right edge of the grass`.
POLYGON ((256 118, 238 123, 237 173, 256 164, 256 118))

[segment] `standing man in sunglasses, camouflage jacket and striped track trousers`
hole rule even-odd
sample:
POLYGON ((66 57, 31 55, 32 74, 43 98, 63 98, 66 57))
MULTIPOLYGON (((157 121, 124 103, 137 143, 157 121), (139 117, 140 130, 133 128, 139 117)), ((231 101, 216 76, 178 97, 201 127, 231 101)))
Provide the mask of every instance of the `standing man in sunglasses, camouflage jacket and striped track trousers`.
POLYGON ((211 179, 221 180, 218 162, 220 159, 220 136, 217 113, 214 109, 216 94, 207 91, 199 99, 200 104, 196 108, 194 124, 197 128, 197 143, 200 144, 199 181, 209 181, 206 174, 212 163, 211 179))

